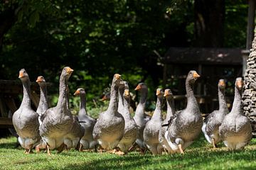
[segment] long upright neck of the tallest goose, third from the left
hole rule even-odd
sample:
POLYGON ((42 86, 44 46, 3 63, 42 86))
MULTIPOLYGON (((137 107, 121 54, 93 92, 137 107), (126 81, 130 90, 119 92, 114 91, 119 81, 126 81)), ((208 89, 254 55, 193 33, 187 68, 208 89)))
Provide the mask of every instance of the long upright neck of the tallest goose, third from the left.
POLYGON ((60 76, 60 94, 59 94, 59 98, 58 98, 58 103, 57 103, 57 107, 61 107, 61 108, 67 108, 67 92, 68 92, 68 81, 65 80, 65 77, 63 77, 62 75, 60 76))

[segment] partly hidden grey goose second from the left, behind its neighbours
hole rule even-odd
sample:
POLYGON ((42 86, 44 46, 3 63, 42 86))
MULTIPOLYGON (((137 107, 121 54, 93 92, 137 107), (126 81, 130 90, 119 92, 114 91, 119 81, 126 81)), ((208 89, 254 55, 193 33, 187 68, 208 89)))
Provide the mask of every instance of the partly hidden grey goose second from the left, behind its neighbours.
MULTIPOLYGON (((41 125, 41 115, 48 109, 47 85, 46 79, 43 76, 39 76, 36 82, 40 87, 40 99, 36 113, 38 113, 38 121, 39 125, 41 125)), ((43 140, 40 141, 40 144, 36 145, 36 152, 40 152, 40 149, 46 149, 46 143, 43 140)))

